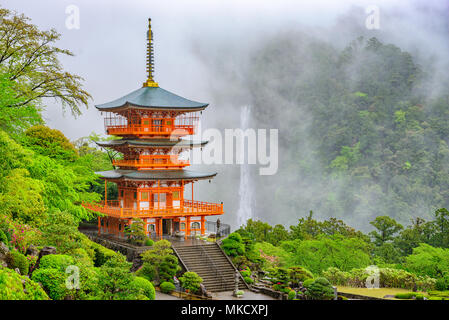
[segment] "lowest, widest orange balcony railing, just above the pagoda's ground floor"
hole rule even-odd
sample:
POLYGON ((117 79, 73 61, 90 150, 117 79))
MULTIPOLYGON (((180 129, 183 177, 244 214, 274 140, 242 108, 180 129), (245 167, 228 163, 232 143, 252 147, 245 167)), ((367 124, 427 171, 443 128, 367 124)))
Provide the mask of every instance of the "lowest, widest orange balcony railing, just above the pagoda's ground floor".
MULTIPOLYGON (((157 206, 157 204, 156 204, 157 206)), ((159 208, 129 208, 122 207, 119 200, 104 201, 97 203, 83 203, 83 207, 95 212, 106 214, 115 218, 158 218, 158 217, 176 217, 176 216, 202 216, 223 214, 223 204, 184 200, 180 207, 159 208)))

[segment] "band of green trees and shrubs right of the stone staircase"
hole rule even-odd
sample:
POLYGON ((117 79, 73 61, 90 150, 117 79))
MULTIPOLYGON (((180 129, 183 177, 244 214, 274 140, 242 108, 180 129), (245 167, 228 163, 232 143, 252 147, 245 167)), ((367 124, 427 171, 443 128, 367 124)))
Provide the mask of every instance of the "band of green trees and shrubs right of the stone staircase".
MULTIPOLYGON (((404 228, 379 216, 370 222, 374 230, 368 234, 335 218, 317 221, 312 213, 282 232, 250 219, 222 247, 244 279, 250 277, 252 283, 257 273, 251 270, 261 271, 263 279, 285 293, 320 276, 334 285, 365 287, 373 265, 380 287, 444 291, 449 290, 448 219, 449 212, 441 208, 434 220, 417 218, 404 228)), ((329 295, 323 285, 320 280, 316 289, 329 295)), ((315 299, 312 293, 304 297, 315 299)))

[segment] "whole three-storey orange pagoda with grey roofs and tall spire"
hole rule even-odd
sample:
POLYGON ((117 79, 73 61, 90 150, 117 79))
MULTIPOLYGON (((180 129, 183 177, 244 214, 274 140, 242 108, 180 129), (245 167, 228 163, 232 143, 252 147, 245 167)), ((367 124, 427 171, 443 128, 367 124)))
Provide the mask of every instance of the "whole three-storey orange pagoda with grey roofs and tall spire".
POLYGON ((223 214, 223 203, 193 199, 193 183, 210 180, 216 173, 185 170, 188 160, 179 155, 207 141, 194 141, 199 114, 208 104, 185 99, 159 87, 153 79, 153 34, 148 27, 147 71, 143 87, 96 108, 106 113, 107 134, 117 140, 98 145, 123 154, 113 160, 116 170, 96 172, 105 181, 105 199, 84 206, 101 213, 98 233, 124 237, 126 225, 142 219, 148 236, 205 233, 205 218, 223 214), (118 199, 108 200, 106 183, 114 182, 118 199), (191 185, 191 199, 184 198, 191 185))

